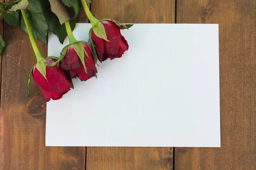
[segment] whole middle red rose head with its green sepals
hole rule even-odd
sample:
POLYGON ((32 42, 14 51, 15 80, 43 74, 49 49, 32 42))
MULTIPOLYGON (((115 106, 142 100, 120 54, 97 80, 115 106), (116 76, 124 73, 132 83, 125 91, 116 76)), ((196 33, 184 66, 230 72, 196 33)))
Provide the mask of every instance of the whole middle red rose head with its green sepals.
POLYGON ((67 47, 65 55, 60 61, 60 66, 62 69, 69 71, 71 77, 79 77, 81 81, 90 79, 96 76, 97 73, 90 47, 87 43, 81 41, 77 41, 67 47), (81 52, 77 53, 76 51, 81 52))

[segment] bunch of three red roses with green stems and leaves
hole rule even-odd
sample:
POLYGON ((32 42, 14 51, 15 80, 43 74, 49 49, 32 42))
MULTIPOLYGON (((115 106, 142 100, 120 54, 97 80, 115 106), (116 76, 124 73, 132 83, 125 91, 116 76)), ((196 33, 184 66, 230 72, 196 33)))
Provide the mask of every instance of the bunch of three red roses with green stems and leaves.
MULTIPOLYGON (((128 42, 120 29, 128 29, 132 24, 125 25, 108 18, 98 20, 91 14, 87 6, 89 3, 90 0, 16 0, 0 3, 0 13, 3 12, 6 23, 20 26, 29 35, 37 59, 27 79, 27 96, 33 77, 47 102, 61 99, 74 88, 73 78, 86 81, 96 77, 98 60, 103 62, 120 58, 128 50, 128 42), (90 44, 77 41, 72 33, 81 8, 92 25, 89 31, 90 44), (59 57, 44 58, 35 43, 35 39, 47 43, 48 31, 55 34, 60 43, 68 37, 69 45, 60 51, 59 57)), ((0 54, 4 46, 3 38, 0 37, 0 54)))

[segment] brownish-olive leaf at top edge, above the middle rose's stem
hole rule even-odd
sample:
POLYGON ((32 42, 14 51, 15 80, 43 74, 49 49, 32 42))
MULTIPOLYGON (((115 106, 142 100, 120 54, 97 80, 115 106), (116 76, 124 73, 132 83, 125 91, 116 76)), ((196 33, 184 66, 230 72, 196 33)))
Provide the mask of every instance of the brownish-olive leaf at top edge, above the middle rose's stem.
POLYGON ((67 6, 61 0, 49 0, 52 12, 58 17, 61 25, 71 20, 72 16, 69 13, 67 6))

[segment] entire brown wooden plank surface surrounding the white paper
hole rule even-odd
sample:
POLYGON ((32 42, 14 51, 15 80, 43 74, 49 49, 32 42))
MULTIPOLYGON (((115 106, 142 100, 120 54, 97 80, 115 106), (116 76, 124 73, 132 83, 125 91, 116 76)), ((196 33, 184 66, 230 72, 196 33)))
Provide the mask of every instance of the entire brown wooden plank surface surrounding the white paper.
POLYGON ((256 170, 255 0, 93 0, 90 9, 121 23, 219 24, 221 148, 45 147, 44 97, 34 81, 25 95, 29 37, 1 16, 0 170, 256 170))

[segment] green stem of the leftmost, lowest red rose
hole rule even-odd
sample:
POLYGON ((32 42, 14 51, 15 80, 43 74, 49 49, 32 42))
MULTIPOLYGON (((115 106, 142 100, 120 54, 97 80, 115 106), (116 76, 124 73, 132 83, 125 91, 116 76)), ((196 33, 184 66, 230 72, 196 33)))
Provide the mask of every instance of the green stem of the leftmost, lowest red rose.
POLYGON ((26 12, 24 10, 20 10, 21 11, 21 14, 22 14, 22 17, 24 19, 24 22, 25 22, 25 25, 26 25, 26 29, 28 31, 28 34, 29 34, 29 39, 30 39, 30 42, 31 42, 31 45, 32 45, 32 48, 34 50, 34 53, 35 53, 35 57, 36 57, 36 60, 37 62, 41 61, 44 59, 44 57, 42 57, 40 51, 38 50, 38 47, 35 43, 35 39, 33 37, 33 34, 32 34, 32 31, 31 31, 31 28, 29 26, 29 21, 28 21, 28 18, 26 17, 26 12))

